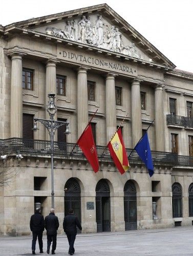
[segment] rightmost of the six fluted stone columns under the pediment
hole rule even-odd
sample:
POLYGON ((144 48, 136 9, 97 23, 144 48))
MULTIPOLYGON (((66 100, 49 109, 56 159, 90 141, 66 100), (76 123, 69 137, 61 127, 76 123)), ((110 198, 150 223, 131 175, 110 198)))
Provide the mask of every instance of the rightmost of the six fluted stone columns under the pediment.
POLYGON ((165 151, 164 147, 164 119, 163 119, 163 85, 157 84, 155 89, 155 124, 156 150, 165 151))

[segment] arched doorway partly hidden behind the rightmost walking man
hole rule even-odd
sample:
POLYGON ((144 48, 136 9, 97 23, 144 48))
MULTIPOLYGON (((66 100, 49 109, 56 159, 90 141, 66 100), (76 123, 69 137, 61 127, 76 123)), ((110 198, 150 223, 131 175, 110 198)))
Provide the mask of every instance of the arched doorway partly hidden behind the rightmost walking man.
POLYGON ((65 216, 69 209, 74 210, 74 215, 78 217, 81 223, 81 197, 80 185, 74 178, 70 178, 65 184, 65 216))

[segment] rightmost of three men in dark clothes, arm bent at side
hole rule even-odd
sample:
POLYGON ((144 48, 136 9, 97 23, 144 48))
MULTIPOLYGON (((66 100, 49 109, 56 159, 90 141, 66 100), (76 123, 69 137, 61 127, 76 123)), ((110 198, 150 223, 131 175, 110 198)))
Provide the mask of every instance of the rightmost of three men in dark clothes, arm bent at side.
POLYGON ((77 234, 77 229, 76 226, 82 230, 82 227, 80 225, 80 222, 76 216, 74 216, 74 211, 73 209, 69 210, 69 215, 67 215, 63 219, 63 230, 67 234, 67 238, 69 241, 69 254, 73 255, 74 254, 74 241, 76 239, 76 234, 77 234))

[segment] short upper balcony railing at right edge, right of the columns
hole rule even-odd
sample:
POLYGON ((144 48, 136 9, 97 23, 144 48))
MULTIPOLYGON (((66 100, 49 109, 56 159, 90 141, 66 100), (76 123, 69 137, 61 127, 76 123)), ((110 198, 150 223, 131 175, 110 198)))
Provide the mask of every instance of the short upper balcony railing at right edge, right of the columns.
POLYGON ((167 125, 179 125, 184 127, 193 127, 193 118, 176 115, 166 115, 167 125))

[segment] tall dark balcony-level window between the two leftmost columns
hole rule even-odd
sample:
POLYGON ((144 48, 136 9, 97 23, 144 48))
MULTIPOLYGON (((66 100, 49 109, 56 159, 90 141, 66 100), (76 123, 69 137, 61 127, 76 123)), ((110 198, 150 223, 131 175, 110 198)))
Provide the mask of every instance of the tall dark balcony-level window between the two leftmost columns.
POLYGON ((23 138, 33 140, 33 117, 34 115, 23 114, 23 138))

